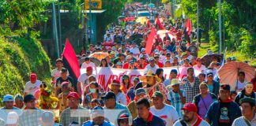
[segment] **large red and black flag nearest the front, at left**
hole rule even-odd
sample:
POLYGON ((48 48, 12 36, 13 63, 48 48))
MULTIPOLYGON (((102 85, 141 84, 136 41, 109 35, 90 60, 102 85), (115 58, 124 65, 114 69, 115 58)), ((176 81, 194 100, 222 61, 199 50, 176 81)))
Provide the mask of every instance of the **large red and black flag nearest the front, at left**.
POLYGON ((64 67, 69 70, 70 76, 73 78, 73 80, 77 80, 80 76, 80 67, 77 60, 77 55, 73 50, 69 39, 66 39, 66 45, 62 53, 62 61, 64 67))

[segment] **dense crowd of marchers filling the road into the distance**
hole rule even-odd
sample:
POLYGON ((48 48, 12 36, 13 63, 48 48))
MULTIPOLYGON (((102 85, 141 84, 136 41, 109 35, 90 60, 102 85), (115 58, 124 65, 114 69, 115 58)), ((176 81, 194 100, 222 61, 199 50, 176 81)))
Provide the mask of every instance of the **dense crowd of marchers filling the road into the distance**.
MULTIPOLYGON (((131 17, 139 8, 128 4, 122 14, 131 17)), ((168 11, 145 8, 156 15, 155 23, 111 25, 104 41, 115 45, 98 43, 81 52, 77 57, 85 58, 81 69, 86 72, 77 80, 63 66, 62 58, 55 61, 52 83, 42 82, 32 73, 24 94, 3 97, 0 125, 256 125, 256 71, 250 81, 245 79, 245 72, 239 72, 235 89, 228 83, 220 83, 217 78, 220 65, 235 59, 228 57, 226 62, 213 59, 209 66, 203 65, 198 57, 198 44, 190 42, 186 20, 172 23, 168 11), (150 31, 161 27, 171 31, 174 38, 169 32, 163 38, 156 35, 152 50, 145 53, 150 31), (95 52, 108 54, 100 61, 102 68, 143 69, 145 75, 133 79, 122 76, 121 80, 112 80, 108 90, 104 90, 94 74, 97 67, 88 57, 95 52), (187 75, 180 80, 178 71, 172 69, 170 76, 164 77, 164 68, 171 66, 188 68, 187 75), (195 70, 200 73, 195 74, 195 70)))

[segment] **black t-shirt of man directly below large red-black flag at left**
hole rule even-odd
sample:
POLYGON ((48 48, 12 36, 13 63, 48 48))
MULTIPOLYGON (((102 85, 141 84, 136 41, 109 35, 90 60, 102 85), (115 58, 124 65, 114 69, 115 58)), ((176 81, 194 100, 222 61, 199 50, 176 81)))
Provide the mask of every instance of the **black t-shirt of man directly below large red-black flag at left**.
POLYGON ((68 76, 66 80, 63 80, 62 77, 58 77, 58 79, 56 80, 55 83, 55 87, 57 87, 57 95, 62 93, 62 89, 60 87, 62 87, 62 82, 69 82, 69 87, 73 87, 74 91, 77 92, 77 84, 73 83, 73 79, 72 77, 68 76))

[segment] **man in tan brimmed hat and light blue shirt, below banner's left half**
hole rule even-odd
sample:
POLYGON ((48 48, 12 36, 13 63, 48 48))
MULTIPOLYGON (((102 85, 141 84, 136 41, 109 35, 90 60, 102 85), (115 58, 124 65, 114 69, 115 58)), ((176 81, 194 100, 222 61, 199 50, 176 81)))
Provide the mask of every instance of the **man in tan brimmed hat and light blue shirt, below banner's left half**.
MULTIPOLYGON (((127 99, 126 99, 126 95, 124 93, 122 93, 121 90, 121 83, 119 80, 113 80, 112 83, 110 84, 110 90, 113 91, 115 93, 115 100, 116 102, 119 102, 122 105, 127 105, 127 99)), ((122 87, 124 88, 124 87, 122 87)))

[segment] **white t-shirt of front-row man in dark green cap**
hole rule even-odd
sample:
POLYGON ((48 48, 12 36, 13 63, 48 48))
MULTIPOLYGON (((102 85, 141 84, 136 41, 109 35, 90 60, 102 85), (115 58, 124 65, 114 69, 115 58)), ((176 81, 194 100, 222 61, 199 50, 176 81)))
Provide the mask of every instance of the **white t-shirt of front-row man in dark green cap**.
POLYGON ((171 126, 176 120, 179 120, 179 115, 173 106, 164 104, 163 109, 156 109, 155 106, 150 107, 152 114, 164 120, 164 124, 171 126))

